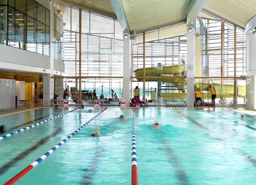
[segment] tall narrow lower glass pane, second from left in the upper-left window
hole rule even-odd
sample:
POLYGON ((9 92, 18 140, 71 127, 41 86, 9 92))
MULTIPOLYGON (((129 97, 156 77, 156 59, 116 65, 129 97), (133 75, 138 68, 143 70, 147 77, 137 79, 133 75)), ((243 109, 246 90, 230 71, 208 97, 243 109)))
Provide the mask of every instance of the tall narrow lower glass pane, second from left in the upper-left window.
POLYGON ((15 46, 15 10, 10 6, 8 14, 8 45, 15 46))

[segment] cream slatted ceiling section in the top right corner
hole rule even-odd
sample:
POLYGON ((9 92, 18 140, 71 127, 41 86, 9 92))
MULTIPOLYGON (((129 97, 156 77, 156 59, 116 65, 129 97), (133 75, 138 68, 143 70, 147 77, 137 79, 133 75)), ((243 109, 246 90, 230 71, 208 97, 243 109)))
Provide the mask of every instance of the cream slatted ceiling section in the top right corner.
POLYGON ((209 0, 204 9, 245 27, 256 14, 256 0, 209 0))

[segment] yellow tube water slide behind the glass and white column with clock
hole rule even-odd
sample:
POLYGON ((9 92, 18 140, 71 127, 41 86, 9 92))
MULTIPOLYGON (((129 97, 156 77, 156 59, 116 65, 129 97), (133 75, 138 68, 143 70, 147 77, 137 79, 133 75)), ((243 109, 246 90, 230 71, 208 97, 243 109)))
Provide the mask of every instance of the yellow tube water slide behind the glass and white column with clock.
MULTIPOLYGON (((173 66, 162 66, 162 67, 147 67, 146 68, 146 76, 182 76, 184 71, 186 71, 187 65, 173 65, 173 66), (173 72, 173 73, 172 73, 173 72)), ((136 69, 133 71, 135 77, 142 77, 143 76, 143 68, 136 69)), ((137 80, 143 80, 142 78, 136 78, 137 80)), ((146 79, 146 81, 157 81, 157 78, 150 78, 146 79)), ((187 79, 185 78, 176 78, 176 79, 161 79, 164 83, 172 83, 175 85, 178 89, 184 90, 185 86, 187 86, 187 79)), ((208 84, 208 82, 207 82, 208 84)), ((231 84, 220 84, 220 83, 211 83, 213 87, 215 87, 217 98, 220 98, 222 96, 223 98, 229 98, 234 95, 234 85, 231 84)), ((196 81, 196 87, 199 87, 201 90, 203 89, 203 83, 202 81, 196 81)), ((205 89, 205 86, 204 86, 205 89)), ((244 86, 238 86, 238 96, 244 97, 245 96, 245 87, 244 86)))

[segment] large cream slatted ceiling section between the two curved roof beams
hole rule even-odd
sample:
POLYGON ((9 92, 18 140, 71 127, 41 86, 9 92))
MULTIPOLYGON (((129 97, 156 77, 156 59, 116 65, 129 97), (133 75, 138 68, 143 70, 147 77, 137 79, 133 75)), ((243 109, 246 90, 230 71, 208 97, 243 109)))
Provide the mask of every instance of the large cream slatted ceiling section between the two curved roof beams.
POLYGON ((130 30, 141 32, 186 19, 189 0, 122 0, 130 30))

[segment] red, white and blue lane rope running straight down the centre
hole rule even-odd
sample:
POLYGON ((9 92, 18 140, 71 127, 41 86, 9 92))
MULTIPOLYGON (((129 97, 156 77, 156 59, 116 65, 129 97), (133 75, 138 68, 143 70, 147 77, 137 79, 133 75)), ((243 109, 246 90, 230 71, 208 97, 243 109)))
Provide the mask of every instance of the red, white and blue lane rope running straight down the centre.
POLYGON ((135 127, 135 108, 134 107, 133 107, 133 116, 132 116, 132 185, 138 185, 136 127, 135 127))

